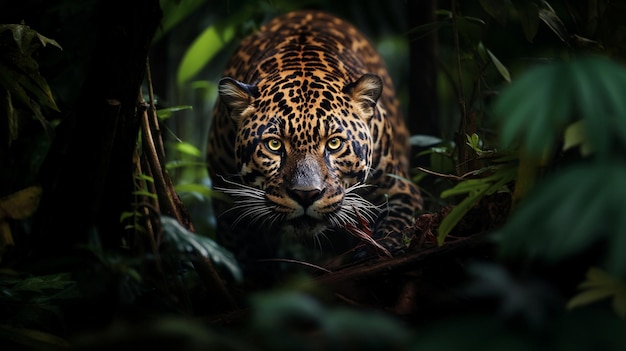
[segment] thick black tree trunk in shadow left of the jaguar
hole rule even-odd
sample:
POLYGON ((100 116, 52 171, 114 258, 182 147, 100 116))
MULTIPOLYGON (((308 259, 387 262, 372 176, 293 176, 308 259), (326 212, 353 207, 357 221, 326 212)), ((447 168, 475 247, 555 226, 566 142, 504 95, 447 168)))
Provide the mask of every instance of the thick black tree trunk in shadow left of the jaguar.
POLYGON ((43 257, 119 246, 120 215, 132 202, 136 107, 161 9, 158 0, 103 0, 95 16, 90 69, 41 171, 32 239, 43 257))

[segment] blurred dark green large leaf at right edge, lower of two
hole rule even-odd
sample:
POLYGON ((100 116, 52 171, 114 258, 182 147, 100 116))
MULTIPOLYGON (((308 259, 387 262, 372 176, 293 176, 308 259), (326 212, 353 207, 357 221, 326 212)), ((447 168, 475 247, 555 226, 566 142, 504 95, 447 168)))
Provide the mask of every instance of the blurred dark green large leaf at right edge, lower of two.
POLYGON ((626 276, 626 165, 583 163, 537 185, 497 233, 503 257, 555 262, 604 241, 609 272, 626 276))

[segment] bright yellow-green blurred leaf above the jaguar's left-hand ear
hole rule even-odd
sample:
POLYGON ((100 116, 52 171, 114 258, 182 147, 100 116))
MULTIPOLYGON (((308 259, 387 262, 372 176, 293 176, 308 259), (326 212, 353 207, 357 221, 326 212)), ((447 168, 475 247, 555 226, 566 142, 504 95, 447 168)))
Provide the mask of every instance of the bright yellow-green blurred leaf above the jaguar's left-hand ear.
POLYGON ((234 36, 234 25, 213 25, 206 28, 187 49, 178 66, 178 85, 181 86, 200 72, 234 36))

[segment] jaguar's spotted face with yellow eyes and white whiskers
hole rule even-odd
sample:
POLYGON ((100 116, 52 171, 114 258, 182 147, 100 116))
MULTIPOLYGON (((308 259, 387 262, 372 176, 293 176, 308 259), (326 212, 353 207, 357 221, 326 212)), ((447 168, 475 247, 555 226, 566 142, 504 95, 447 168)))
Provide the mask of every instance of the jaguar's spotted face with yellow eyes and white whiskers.
POLYGON ((220 98, 238 126, 243 184, 223 189, 234 197, 237 221, 315 235, 373 216, 374 206, 356 190, 372 164, 368 122, 380 78, 364 75, 346 86, 312 82, 220 82, 220 98))

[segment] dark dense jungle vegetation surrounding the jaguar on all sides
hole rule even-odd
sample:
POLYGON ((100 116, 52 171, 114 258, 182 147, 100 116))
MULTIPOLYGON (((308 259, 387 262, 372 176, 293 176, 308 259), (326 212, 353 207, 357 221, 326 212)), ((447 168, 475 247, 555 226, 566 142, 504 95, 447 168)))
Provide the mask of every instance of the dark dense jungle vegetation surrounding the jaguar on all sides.
POLYGON ((626 5, 0 5, 0 348, 626 345, 626 5), (221 67, 295 8, 386 58, 425 194, 410 249, 269 290, 213 240, 221 67), (147 60, 148 58, 148 60, 147 60))

